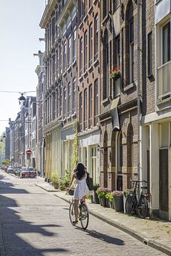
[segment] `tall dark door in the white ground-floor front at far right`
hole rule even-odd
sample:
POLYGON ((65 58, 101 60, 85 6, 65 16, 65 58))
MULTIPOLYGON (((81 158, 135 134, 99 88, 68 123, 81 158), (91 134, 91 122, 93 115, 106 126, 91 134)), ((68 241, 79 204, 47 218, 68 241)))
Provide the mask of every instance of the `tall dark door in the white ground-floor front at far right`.
POLYGON ((160 149, 160 210, 168 212, 168 149, 160 149))

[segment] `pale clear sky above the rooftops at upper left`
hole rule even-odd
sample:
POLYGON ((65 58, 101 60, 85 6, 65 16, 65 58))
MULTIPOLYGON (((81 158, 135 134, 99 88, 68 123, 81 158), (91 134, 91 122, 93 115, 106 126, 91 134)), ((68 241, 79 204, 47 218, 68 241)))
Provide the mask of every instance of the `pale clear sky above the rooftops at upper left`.
MULTIPOLYGON (((33 57, 33 53, 45 47, 38 40, 44 37, 39 23, 45 3, 45 0, 0 0, 0 91, 36 90, 38 57, 33 57)), ((30 95, 36 92, 26 94, 30 95)), ((1 120, 16 119, 19 97, 19 93, 0 92, 0 134, 9 126, 1 120)))

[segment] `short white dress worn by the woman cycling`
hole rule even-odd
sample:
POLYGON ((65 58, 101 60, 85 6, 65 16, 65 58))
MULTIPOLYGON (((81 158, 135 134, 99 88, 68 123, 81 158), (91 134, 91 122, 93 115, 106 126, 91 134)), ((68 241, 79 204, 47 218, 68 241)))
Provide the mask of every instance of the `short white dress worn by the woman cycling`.
POLYGON ((76 180, 76 188, 74 190, 73 198, 80 200, 83 196, 86 196, 89 193, 89 189, 86 183, 87 174, 81 180, 76 180))

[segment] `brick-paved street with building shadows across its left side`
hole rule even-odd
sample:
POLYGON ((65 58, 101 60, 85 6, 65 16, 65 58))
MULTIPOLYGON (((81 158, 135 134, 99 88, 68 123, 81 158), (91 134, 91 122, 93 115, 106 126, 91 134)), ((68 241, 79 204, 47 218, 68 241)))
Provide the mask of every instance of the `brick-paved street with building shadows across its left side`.
POLYGON ((73 228, 68 203, 35 179, 0 175, 1 256, 165 255, 92 215, 88 230, 73 228))

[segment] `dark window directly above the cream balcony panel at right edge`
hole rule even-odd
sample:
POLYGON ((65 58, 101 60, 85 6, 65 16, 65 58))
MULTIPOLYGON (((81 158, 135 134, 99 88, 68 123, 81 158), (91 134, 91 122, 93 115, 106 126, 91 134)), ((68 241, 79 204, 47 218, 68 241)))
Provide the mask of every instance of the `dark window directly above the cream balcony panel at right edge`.
POLYGON ((162 27, 162 64, 170 61, 170 22, 162 27))

